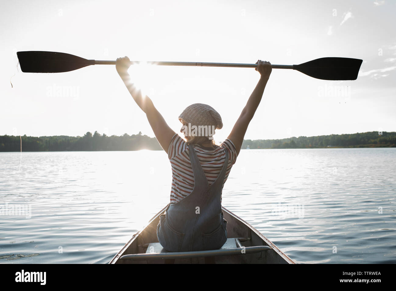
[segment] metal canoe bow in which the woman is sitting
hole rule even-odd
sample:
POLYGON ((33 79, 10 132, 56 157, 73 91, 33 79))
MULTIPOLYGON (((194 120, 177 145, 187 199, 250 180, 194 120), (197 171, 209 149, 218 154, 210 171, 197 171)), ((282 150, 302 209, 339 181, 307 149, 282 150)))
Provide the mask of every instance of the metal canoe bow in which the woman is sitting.
POLYGON ((168 252, 157 239, 157 225, 165 206, 135 233, 110 264, 295 264, 249 223, 222 207, 227 242, 221 249, 168 252))

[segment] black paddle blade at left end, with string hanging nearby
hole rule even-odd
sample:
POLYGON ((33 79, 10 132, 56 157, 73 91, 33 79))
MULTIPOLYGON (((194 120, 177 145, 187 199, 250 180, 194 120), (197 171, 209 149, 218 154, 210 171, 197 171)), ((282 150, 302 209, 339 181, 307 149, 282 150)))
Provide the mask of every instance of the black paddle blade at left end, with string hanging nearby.
POLYGON ((95 64, 95 60, 54 51, 18 51, 17 56, 21 70, 25 73, 69 72, 95 64))

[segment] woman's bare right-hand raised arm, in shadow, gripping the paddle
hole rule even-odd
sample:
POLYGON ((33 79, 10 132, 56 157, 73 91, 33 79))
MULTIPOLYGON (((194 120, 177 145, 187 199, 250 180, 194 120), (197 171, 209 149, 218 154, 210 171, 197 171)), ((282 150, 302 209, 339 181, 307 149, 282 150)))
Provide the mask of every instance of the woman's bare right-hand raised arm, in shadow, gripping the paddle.
POLYGON ((257 60, 256 64, 258 64, 258 66, 255 70, 259 71, 261 77, 255 89, 253 90, 253 93, 251 93, 249 100, 247 100, 246 106, 242 110, 241 115, 232 128, 230 135, 228 136, 228 139, 234 144, 236 153, 238 155, 242 147, 242 142, 244 141, 247 126, 249 125, 257 107, 260 104, 261 97, 264 93, 264 88, 267 85, 267 81, 272 71, 270 62, 257 60))

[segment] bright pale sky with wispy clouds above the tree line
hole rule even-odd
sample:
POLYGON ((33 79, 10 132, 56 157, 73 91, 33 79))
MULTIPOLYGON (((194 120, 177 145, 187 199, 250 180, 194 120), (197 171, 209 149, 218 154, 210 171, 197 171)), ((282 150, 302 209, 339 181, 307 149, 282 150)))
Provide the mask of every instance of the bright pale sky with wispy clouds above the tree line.
MULTIPOLYGON (((86 59, 300 64, 362 59, 357 80, 273 69, 245 139, 396 131, 396 1, 1 1, 0 135, 154 137, 114 65, 21 72, 17 51, 86 59), (12 83, 12 87, 11 87, 12 83)), ((259 81, 253 68, 131 66, 168 125, 209 104, 227 138, 259 81)))

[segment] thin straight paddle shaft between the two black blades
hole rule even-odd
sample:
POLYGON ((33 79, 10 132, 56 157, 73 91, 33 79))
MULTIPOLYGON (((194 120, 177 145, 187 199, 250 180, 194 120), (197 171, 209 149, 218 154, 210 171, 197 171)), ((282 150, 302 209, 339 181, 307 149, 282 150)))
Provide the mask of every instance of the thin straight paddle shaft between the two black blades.
MULTIPOLYGON (((139 64, 139 61, 131 61, 131 64, 139 64)), ((147 62, 157 66, 198 66, 198 67, 234 67, 234 68, 256 68, 257 64, 235 64, 225 62, 147 62)), ((115 60, 95 60, 95 65, 115 65, 115 60)), ((273 69, 293 69, 293 65, 273 65, 273 69)))

